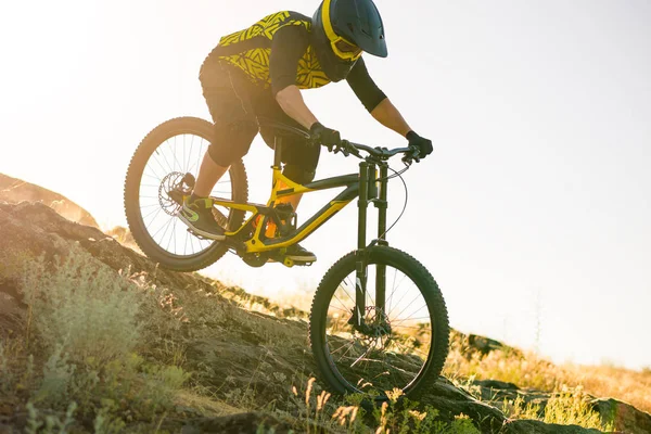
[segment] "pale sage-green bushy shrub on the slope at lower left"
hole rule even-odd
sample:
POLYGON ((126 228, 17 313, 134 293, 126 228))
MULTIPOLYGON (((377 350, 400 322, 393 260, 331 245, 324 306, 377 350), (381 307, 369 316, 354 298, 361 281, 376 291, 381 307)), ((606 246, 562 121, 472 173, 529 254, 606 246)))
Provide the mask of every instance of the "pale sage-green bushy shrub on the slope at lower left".
POLYGON ((140 337, 136 316, 142 293, 127 279, 76 248, 58 259, 30 265, 23 285, 39 341, 75 362, 104 363, 131 353, 140 337))

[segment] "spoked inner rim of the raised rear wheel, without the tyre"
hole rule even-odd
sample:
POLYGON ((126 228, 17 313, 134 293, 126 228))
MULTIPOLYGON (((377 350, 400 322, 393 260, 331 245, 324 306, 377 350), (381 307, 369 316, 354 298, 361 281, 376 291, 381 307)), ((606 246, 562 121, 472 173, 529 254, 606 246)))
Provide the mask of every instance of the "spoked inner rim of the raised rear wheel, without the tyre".
MULTIPOLYGON (((186 174, 197 177, 208 145, 208 140, 195 133, 173 136, 151 153, 144 165, 138 192, 140 219, 148 235, 166 255, 193 257, 218 244, 189 232, 188 227, 178 218, 180 205, 168 195, 186 174)), ((228 171, 217 182, 210 195, 233 199, 233 186, 228 171)), ((229 216, 228 208, 218 207, 218 210, 229 216)))

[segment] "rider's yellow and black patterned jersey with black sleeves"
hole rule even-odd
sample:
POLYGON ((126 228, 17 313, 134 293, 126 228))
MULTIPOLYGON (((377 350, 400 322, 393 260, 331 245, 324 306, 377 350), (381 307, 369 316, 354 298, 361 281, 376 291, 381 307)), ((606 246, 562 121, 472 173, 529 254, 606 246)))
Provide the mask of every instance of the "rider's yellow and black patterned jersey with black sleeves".
MULTIPOLYGON (((322 71, 310 43, 311 18, 292 11, 265 16, 253 26, 219 40, 210 61, 244 73, 258 89, 273 94, 291 85, 314 89, 331 81, 322 71)), ((346 80, 367 110, 386 95, 375 86, 360 58, 346 80)))

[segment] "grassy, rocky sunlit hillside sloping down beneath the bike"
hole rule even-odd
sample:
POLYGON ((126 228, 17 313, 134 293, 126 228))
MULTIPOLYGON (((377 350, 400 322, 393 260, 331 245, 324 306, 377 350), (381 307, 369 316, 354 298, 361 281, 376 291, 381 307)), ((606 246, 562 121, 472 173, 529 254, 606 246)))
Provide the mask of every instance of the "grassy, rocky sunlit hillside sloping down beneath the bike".
POLYGON ((2 180, 0 433, 651 432, 649 372, 556 367, 458 332, 420 403, 330 396, 305 311, 161 269, 82 208, 65 218, 65 197, 2 180))

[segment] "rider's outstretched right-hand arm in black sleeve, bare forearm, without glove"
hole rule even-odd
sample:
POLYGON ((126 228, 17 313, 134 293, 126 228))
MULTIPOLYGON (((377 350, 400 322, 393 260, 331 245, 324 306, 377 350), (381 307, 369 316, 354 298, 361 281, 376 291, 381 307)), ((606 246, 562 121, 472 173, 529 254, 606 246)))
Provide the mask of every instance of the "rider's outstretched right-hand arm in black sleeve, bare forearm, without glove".
POLYGON ((407 137, 411 128, 400 115, 400 112, 386 98, 386 94, 378 88, 367 71, 363 59, 360 58, 357 61, 346 80, 359 101, 380 124, 403 137, 407 137))

